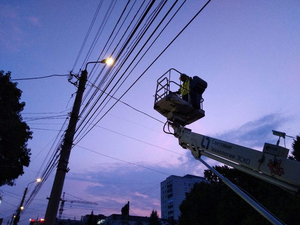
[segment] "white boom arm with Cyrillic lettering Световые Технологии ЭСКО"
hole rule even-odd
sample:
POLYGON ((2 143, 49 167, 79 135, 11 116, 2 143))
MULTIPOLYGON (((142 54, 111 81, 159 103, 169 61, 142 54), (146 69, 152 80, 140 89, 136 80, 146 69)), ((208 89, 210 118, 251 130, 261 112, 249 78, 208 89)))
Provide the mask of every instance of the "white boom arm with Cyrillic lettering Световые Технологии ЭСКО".
POLYGON ((170 125, 174 128, 174 136, 179 139, 179 145, 190 149, 196 159, 204 155, 300 194, 300 163, 287 159, 289 149, 265 143, 260 152, 170 125))

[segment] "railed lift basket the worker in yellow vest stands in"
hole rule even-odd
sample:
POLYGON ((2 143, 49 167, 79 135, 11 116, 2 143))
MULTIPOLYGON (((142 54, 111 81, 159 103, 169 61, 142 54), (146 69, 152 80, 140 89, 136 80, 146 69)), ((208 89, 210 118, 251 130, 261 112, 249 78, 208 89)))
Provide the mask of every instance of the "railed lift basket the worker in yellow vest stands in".
POLYGON ((181 126, 191 124, 197 121, 198 119, 204 117, 205 112, 202 109, 202 103, 204 100, 202 98, 202 95, 198 97, 199 109, 193 107, 193 105, 191 104, 192 101, 190 91, 188 93, 188 102, 183 100, 181 95, 176 95, 174 92, 181 88, 181 82, 178 83, 171 80, 171 72, 173 79, 178 79, 182 74, 178 70, 170 69, 166 73, 164 73, 164 75, 162 75, 160 78, 158 78, 156 92, 154 96, 154 109, 158 111, 161 115, 167 117, 169 121, 175 122, 181 126), (170 90, 170 87, 172 90, 170 90))

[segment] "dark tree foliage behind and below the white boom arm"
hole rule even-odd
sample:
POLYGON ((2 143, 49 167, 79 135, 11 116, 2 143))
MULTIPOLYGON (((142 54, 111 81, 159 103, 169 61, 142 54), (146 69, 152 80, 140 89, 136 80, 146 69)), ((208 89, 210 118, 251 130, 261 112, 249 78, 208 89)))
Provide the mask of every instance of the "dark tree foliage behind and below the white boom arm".
MULTIPOLYGON (((292 145, 292 157, 295 160, 297 160, 297 153, 299 153, 297 147, 299 144, 300 141, 297 136, 297 140, 292 145)), ((214 168, 233 184, 248 192, 283 223, 299 223, 299 196, 226 165, 215 166, 214 168)), ((186 193, 185 200, 179 206, 181 211, 179 225, 271 224, 210 170, 205 170, 204 176, 210 183, 195 184, 190 193, 186 193)))

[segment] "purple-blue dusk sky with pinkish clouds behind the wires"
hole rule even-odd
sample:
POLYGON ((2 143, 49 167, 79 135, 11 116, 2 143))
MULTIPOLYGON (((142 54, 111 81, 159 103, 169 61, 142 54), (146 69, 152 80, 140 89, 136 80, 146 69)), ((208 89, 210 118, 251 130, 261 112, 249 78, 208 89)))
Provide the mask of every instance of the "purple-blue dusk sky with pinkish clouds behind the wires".
MULTIPOLYGON (((99 3, 102 3, 100 10, 73 73, 84 69, 82 65, 86 61, 97 61, 99 56, 100 59, 108 58, 143 3, 142 0, 129 2, 113 37, 133 6, 128 18, 117 38, 109 47, 112 40, 110 39, 101 54, 128 2, 112 1, 1 1, 0 70, 11 71, 11 79, 68 74, 75 64, 99 3), (107 10, 111 13, 105 25, 101 27, 107 10), (98 38, 97 32, 100 27, 103 30, 98 38), (95 37, 98 41, 94 46, 92 42, 95 37), (90 54, 91 46, 94 47, 90 54), (89 57, 85 60, 87 55, 89 57)), ((142 10, 148 2, 145 1, 142 10)), ((130 66, 134 56, 138 54, 138 49, 150 37, 174 2, 167 1, 106 92, 112 90, 123 73, 124 76, 129 74, 128 79, 114 95, 115 98, 121 97, 206 3, 187 0, 142 60, 137 64, 145 50, 130 66), (137 66, 133 69, 135 64, 137 66), (130 69, 125 71, 128 66, 130 69)), ((159 3, 160 1, 155 1, 150 13, 159 3)), ((183 0, 176 3, 150 43, 182 3, 183 0)), ((138 13, 134 24, 141 14, 138 13)), ((141 27, 146 23, 146 19, 141 27)), ((205 117, 187 125, 193 132, 259 151, 262 151, 265 142, 276 143, 277 137, 272 135, 272 129, 295 137, 300 132, 299 22, 300 1, 212 0, 121 101, 166 122, 166 118, 153 110, 153 95, 157 79, 170 68, 175 68, 188 76, 199 76, 208 83, 203 94, 205 117)), ((133 25, 130 30, 132 28, 133 25)), ((128 33, 125 36, 127 37, 128 33)), ((120 42, 112 58, 116 57, 124 40, 120 42)), ((149 46, 148 43, 146 48, 149 46)), ((93 65, 88 65, 88 85, 96 80, 104 68, 95 83, 99 85, 109 69, 109 66, 104 64, 97 66, 97 70, 94 69, 90 73, 93 65)), ((178 81, 176 76, 173 79, 178 81)), ((121 78, 121 82, 123 80, 124 77, 121 78)), ((7 224, 17 209, 27 184, 41 176, 50 156, 55 154, 55 146, 58 143, 55 142, 55 137, 60 138, 63 134, 59 130, 62 129, 66 115, 73 105, 72 94, 76 92, 74 85, 68 82, 67 76, 17 82, 17 87, 23 91, 21 101, 26 103, 22 112, 23 121, 28 121, 33 131, 33 138, 28 143, 32 155, 29 167, 24 167, 25 173, 16 179, 16 185, 0 187, 3 196, 0 217, 4 217, 3 224, 7 224), (49 116, 60 116, 60 119, 37 118, 49 116)), ((108 80, 104 84, 107 82, 108 80)), ((85 90, 84 96, 87 95, 87 98, 83 101, 81 109, 86 106, 95 90, 91 88, 92 92, 88 94, 90 88, 87 86, 85 90)), ((98 91, 87 106, 88 110, 100 96, 101 91, 98 91)), ((91 113, 86 121, 92 118, 89 122, 95 124, 116 102, 112 99, 104 106, 106 100, 96 110, 105 96, 104 94, 96 103, 92 111, 95 115, 92 116, 91 113)), ((189 150, 182 149, 178 145, 178 139, 163 132, 163 123, 131 107, 118 102, 78 143, 82 134, 86 133, 86 127, 82 131, 81 127, 81 132, 75 134, 76 146, 70 154, 70 171, 66 175, 63 192, 68 193, 65 195, 68 200, 85 200, 97 202, 98 205, 66 202, 63 218, 75 217, 79 220, 82 215, 90 214, 91 210, 94 210, 95 214, 106 216, 120 214, 122 206, 128 201, 131 215, 149 216, 152 209, 156 209, 161 215, 160 182, 170 175, 203 176, 203 170, 206 169, 204 165, 196 161, 189 150)), ((65 128, 63 126, 62 130, 65 128)), ((286 148, 291 149, 291 143, 292 138, 287 137, 286 148)), ((283 140, 280 141, 280 145, 284 146, 283 140)), ((205 157, 203 159, 212 166, 219 164, 205 157)), ((20 225, 29 224, 30 218, 44 218, 48 202, 46 197, 50 195, 54 175, 55 170, 43 183, 32 203, 25 208, 20 225)), ((35 184, 29 185, 27 196, 30 196, 34 187, 35 184)))

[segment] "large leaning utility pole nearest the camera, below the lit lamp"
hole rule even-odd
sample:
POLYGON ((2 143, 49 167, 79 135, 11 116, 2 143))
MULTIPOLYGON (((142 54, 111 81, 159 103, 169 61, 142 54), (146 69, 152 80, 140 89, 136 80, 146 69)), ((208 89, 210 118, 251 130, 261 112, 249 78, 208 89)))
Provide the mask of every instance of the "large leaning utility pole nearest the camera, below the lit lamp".
POLYGON ((85 83, 88 77, 88 72, 85 68, 81 72, 81 76, 79 78, 79 85, 74 101, 74 106, 72 109, 72 113, 70 115, 70 122, 64 136, 63 144, 61 146, 60 157, 58 160, 57 170, 51 190, 51 194, 49 197, 49 202, 47 205, 47 210, 45 214, 45 225, 54 225, 57 215, 57 210, 59 206, 59 201, 61 199, 61 192, 64 185, 64 178, 66 173, 69 171, 67 165, 69 163, 70 152, 73 145, 74 133, 76 129, 76 124, 78 121, 78 115, 80 111, 80 105, 82 102, 82 96, 85 89, 85 83))

